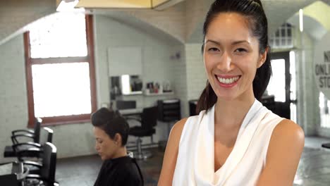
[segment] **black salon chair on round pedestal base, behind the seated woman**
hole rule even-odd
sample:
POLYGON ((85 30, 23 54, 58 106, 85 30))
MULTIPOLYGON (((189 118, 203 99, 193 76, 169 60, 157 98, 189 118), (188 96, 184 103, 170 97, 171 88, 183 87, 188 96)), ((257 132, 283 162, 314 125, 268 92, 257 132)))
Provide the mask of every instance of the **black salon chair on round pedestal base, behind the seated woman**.
POLYGON ((138 122, 141 123, 140 126, 135 126, 133 128, 130 128, 130 132, 128 132, 129 135, 133 135, 135 137, 138 137, 136 140, 136 146, 137 146, 137 153, 134 154, 135 159, 147 159, 152 154, 149 151, 142 151, 141 147, 141 137, 151 137, 151 141, 153 143, 152 135, 156 132, 154 129, 154 126, 157 125, 157 118, 158 118, 158 108, 157 106, 145 108, 142 111, 141 118, 126 118, 127 120, 138 120, 138 122))

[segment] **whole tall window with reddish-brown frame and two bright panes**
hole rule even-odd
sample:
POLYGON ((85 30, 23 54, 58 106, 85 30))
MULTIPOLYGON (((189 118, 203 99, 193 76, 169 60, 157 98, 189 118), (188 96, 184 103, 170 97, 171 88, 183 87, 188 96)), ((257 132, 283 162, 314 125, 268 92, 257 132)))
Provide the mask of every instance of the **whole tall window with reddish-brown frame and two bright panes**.
POLYGON ((96 110, 92 16, 55 13, 24 34, 29 126, 90 120, 96 110))

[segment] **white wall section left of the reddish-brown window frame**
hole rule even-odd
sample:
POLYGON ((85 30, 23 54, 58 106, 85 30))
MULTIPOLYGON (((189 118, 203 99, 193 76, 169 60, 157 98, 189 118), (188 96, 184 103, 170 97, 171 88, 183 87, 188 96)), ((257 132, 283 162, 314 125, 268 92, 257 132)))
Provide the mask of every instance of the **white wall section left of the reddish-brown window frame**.
MULTIPOLYGON (((0 45, 0 150, 11 145, 11 131, 27 126, 23 36, 0 45)), ((3 155, 0 163, 6 162, 3 155)))

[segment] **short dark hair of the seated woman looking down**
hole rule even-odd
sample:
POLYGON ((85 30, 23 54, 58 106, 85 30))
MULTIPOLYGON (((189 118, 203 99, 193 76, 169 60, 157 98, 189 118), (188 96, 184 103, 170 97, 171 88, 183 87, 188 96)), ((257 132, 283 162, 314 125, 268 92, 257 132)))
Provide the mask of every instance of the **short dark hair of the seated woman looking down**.
POLYGON ((118 111, 101 108, 92 113, 91 120, 94 127, 104 130, 112 140, 114 140, 116 133, 121 135, 121 146, 126 145, 130 127, 118 111))

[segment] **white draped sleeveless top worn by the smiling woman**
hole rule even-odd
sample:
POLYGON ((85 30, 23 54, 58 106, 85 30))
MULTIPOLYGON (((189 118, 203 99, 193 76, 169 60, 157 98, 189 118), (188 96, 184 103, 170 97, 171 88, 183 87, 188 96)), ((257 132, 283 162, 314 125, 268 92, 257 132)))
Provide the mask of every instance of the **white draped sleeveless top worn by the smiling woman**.
POLYGON ((172 185, 255 185, 269 140, 283 118, 255 99, 226 162, 214 173, 214 106, 189 117, 183 128, 172 185))

